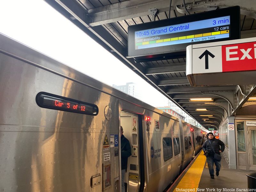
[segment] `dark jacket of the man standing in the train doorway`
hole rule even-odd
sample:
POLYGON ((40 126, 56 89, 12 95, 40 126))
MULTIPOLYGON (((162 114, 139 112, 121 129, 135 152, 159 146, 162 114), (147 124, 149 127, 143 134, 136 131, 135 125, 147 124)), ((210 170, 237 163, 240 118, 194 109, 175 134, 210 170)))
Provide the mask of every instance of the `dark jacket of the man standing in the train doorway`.
POLYGON ((121 169, 127 169, 128 157, 132 155, 131 146, 128 139, 121 136, 121 169))

